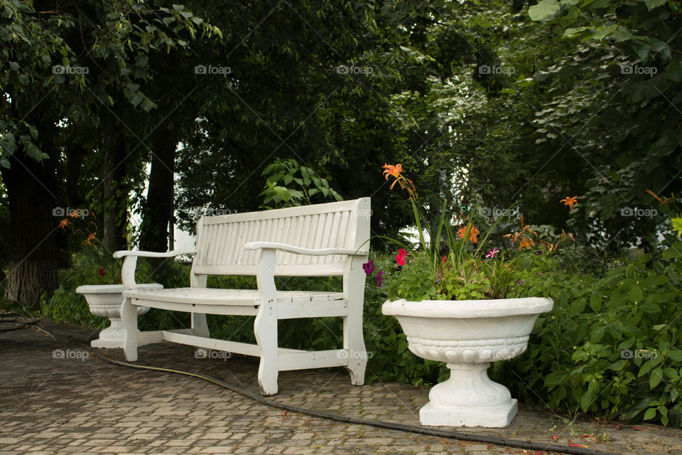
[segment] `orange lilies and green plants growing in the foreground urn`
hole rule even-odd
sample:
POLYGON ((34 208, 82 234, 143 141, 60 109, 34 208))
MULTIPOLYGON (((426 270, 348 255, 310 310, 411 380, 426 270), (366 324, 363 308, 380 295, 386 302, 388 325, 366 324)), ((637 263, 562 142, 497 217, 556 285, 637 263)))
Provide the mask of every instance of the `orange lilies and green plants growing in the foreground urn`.
MULTIPOLYGON (((420 248, 409 252, 409 263, 406 262, 408 251, 400 248, 394 257, 397 267, 384 266, 386 273, 377 274, 377 284, 384 285, 389 299, 503 299, 518 291, 518 283, 523 282, 524 267, 542 260, 540 255, 536 255, 538 248, 553 251, 551 243, 540 240, 538 232, 531 225, 526 225, 523 217, 519 218, 521 228, 517 232, 502 237, 507 239, 506 245, 483 250, 499 220, 484 232, 485 220, 475 220, 473 215, 480 213, 479 210, 451 218, 447 215, 445 203, 440 211, 438 234, 431 235, 432 242, 427 244, 422 224, 431 223, 421 222, 426 209, 418 203, 416 189, 404 175, 402 166, 385 164, 384 176, 395 179, 391 188, 397 183, 408 191, 421 242, 420 248)), ((575 203, 575 199, 577 197, 570 198, 570 203, 575 203)))

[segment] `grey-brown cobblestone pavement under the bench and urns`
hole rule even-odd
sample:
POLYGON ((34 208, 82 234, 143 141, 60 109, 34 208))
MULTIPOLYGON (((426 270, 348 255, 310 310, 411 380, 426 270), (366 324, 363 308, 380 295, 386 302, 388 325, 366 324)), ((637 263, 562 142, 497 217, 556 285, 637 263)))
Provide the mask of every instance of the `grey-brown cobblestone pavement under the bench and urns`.
MULTIPOLYGON (((80 341, 96 336, 43 323, 80 341)), ((124 360, 122 350, 99 352, 124 360)), ((140 348, 139 363, 258 392, 253 358, 195 358, 189 346, 157 344, 140 348)), ((282 372, 279 389, 273 398, 279 402, 410 425, 419 424, 418 410, 428 401, 427 389, 410 385, 354 387, 342 369, 282 372)), ((36 328, 0 332, 0 394, 0 455, 549 453, 283 413, 198 378, 105 363, 36 328)), ((521 405, 506 429, 453 430, 622 454, 682 454, 682 430, 639 427, 566 424, 521 405)))

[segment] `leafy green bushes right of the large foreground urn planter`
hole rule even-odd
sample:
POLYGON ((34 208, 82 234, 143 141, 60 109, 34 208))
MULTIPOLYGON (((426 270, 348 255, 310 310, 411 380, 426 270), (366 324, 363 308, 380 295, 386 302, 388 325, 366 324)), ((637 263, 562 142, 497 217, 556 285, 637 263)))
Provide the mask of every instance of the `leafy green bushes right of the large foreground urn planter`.
POLYGON ((651 259, 617 264, 600 279, 558 272, 553 262, 529 270, 520 294, 547 293, 554 310, 538 318, 528 351, 494 377, 556 412, 681 427, 680 264, 651 259))

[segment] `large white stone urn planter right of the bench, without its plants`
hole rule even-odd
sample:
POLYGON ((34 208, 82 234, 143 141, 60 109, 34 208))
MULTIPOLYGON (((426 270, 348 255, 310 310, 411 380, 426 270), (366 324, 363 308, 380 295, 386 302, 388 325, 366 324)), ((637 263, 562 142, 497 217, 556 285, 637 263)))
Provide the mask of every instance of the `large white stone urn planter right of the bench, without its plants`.
POLYGON ((447 427, 509 426, 516 399, 488 378, 496 360, 526 350, 528 337, 551 299, 465 301, 386 301, 381 312, 396 316, 410 350, 421 358, 446 362, 450 379, 435 385, 419 411, 423 425, 447 427))

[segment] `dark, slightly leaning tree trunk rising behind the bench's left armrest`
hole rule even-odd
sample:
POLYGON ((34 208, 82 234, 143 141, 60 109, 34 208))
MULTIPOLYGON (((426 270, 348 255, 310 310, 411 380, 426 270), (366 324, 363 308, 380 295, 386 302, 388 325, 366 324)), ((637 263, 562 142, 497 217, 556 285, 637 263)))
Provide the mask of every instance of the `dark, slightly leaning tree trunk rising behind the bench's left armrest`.
POLYGON ((153 158, 147 198, 142 210, 140 250, 168 251, 168 231, 173 218, 173 166, 178 134, 173 129, 158 127, 153 134, 153 158))

